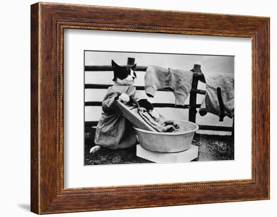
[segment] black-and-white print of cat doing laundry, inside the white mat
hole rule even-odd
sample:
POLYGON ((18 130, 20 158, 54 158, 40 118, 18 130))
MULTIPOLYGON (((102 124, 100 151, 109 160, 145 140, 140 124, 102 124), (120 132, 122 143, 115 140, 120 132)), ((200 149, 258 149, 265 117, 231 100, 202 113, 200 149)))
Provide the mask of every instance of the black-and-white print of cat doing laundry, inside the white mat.
POLYGON ((235 160, 234 61, 85 50, 85 166, 235 160))

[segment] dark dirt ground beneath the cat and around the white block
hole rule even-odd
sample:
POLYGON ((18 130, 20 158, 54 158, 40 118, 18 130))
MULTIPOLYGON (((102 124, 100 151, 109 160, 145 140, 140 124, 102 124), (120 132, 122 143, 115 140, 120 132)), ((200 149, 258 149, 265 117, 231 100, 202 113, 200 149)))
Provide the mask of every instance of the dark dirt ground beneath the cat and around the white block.
MULTIPOLYGON (((135 147, 121 150, 101 149, 90 154, 90 149, 95 146, 93 140, 94 138, 90 137, 85 142, 85 165, 153 163, 137 157, 135 147)), ((233 136, 195 133, 192 144, 199 147, 198 158, 193 161, 234 160, 233 136)))

